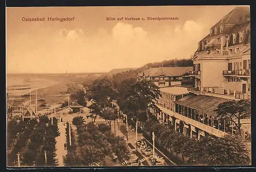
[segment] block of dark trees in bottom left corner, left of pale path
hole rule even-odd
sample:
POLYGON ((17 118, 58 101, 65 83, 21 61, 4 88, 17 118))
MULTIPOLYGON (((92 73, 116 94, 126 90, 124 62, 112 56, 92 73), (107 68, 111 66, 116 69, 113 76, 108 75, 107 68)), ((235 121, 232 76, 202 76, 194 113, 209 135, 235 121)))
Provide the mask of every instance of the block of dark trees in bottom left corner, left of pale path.
MULTIPOLYGON (((15 124, 13 121, 10 122, 12 125, 15 124)), ((42 116, 39 121, 36 119, 20 121, 17 126, 16 131, 18 131, 18 134, 16 138, 14 137, 16 141, 13 146, 10 146, 12 151, 7 156, 9 166, 17 165, 16 154, 18 153, 20 154, 20 165, 22 166, 56 166, 58 164, 55 158, 55 137, 59 136, 56 118, 53 119, 53 125, 51 125, 51 121, 47 116, 42 116), (22 132, 20 132, 20 126, 22 126, 22 132)), ((16 133, 15 127, 10 131, 10 137, 14 133, 16 133)))

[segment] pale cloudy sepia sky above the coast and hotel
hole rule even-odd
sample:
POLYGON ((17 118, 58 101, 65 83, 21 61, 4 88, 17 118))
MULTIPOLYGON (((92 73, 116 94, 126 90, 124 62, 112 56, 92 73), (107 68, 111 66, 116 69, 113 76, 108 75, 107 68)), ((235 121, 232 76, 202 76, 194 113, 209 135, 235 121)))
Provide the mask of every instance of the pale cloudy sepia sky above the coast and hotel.
POLYGON ((7 73, 106 72, 190 58, 234 6, 22 7, 6 10, 7 73), (24 18, 45 21, 23 21, 24 18), (70 21, 48 21, 73 18, 70 21), (107 20, 115 17, 116 20, 107 20), (123 17, 123 20, 117 20, 123 17), (140 17, 140 20, 125 20, 140 17), (145 20, 142 20, 142 17, 145 20), (178 17, 178 20, 147 20, 178 17))

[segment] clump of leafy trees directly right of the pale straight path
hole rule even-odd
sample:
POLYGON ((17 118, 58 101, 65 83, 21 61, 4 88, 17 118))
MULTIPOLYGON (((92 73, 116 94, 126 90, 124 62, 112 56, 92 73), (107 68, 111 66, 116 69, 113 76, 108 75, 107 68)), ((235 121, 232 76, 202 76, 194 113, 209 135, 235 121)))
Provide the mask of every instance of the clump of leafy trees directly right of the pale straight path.
POLYGON ((113 153, 120 161, 129 158, 124 139, 111 133, 108 125, 95 125, 93 122, 86 124, 81 116, 73 118, 72 122, 77 128, 77 146, 75 150, 68 149, 64 157, 65 165, 89 166, 93 162, 104 161, 106 156, 113 153))

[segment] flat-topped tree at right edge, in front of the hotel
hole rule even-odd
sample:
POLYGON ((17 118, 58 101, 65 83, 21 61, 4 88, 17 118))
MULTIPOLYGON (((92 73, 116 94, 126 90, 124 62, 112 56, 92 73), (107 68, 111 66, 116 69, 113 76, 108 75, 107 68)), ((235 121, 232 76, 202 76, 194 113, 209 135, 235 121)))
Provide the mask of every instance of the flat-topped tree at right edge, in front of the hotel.
POLYGON ((228 118, 237 126, 241 136, 240 120, 251 115, 251 103, 249 100, 230 100, 218 105, 216 109, 220 118, 228 118))

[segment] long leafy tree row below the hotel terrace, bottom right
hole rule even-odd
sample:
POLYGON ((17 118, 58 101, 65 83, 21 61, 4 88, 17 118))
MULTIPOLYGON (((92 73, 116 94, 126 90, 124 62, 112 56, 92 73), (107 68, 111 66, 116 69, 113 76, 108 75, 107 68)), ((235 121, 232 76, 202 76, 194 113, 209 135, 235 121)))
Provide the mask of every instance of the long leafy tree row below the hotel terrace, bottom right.
POLYGON ((156 121, 147 121, 144 131, 169 153, 181 154, 189 165, 249 165, 250 157, 244 141, 236 135, 208 136, 200 140, 168 129, 156 121))

